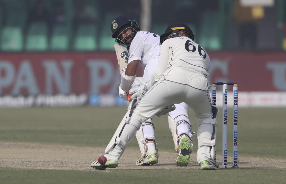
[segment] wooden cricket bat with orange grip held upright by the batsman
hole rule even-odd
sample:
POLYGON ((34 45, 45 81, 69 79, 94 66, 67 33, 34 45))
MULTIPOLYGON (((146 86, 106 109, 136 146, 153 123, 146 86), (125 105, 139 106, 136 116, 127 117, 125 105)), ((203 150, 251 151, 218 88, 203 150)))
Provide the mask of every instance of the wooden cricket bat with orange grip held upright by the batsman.
MULTIPOLYGON (((129 58, 128 50, 124 47, 119 46, 118 44, 114 44, 114 49, 119 65, 120 76, 122 78, 122 73, 127 68, 127 63, 129 58)), ((128 101, 131 101, 131 95, 129 93, 128 93, 128 101)))

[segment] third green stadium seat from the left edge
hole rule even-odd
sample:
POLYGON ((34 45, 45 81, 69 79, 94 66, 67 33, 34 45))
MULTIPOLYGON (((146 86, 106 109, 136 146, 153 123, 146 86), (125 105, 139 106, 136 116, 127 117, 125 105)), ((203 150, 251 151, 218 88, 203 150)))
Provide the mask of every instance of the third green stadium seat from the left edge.
POLYGON ((65 25, 57 25, 52 31, 51 50, 65 51, 69 49, 68 29, 65 25))

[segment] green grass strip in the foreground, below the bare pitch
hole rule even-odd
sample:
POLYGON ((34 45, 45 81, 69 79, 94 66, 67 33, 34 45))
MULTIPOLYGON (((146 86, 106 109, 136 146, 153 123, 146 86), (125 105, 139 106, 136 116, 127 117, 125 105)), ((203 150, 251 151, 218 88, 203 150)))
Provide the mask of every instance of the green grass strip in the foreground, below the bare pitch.
POLYGON ((4 183, 285 183, 286 169, 221 169, 200 170, 118 170, 67 171, 45 169, 1 169, 4 183))

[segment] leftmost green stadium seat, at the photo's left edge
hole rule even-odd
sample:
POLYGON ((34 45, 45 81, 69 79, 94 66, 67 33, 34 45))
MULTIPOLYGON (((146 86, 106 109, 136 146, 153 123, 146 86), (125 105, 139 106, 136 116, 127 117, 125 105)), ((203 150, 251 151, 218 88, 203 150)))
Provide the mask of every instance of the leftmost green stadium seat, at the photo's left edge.
POLYGON ((21 51, 23 49, 23 32, 21 27, 4 27, 1 32, 2 51, 21 51))

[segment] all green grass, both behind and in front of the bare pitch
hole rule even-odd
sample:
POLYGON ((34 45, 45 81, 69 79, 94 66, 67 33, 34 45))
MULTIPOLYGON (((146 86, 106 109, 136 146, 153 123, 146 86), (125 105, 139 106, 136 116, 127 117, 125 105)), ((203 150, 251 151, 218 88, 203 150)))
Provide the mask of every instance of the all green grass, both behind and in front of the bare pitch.
MULTIPOLYGON (((104 148, 126 107, 25 108, 0 110, 0 142, 94 146, 104 148)), ((286 108, 239 108, 239 156, 286 159, 286 108)), ((229 110, 228 140, 232 137, 229 110)), ((189 118, 197 130, 194 113, 189 118)), ((154 117, 156 142, 160 150, 174 152, 167 116, 154 117)), ((221 109, 217 120, 217 154, 221 154, 221 109)), ((194 137, 194 151, 197 138, 194 137)), ((138 149, 136 139, 129 147, 138 149)), ((230 152, 231 141, 228 142, 230 152)), ((1 152, 0 152, 1 153, 1 152)), ((231 153, 230 156, 231 158, 231 153)), ((1 158, 1 155, 0 155, 1 158)), ((0 160, 1 161, 1 160, 0 160)), ((238 168, 200 170, 113 170, 96 171, 3 168, 0 183, 178 183, 178 176, 190 183, 285 183, 286 169, 238 168), (144 178, 153 182, 144 182, 144 178), (107 179, 108 178, 108 179, 107 179), (154 180, 153 180, 154 178, 154 180), (97 180, 98 179, 98 180, 97 180), (122 181, 122 182, 121 182, 122 181)), ((186 182, 186 183, 188 183, 186 182)), ((182 182, 180 182, 182 183, 182 182)), ((184 182, 183 182, 184 183, 184 182)))

